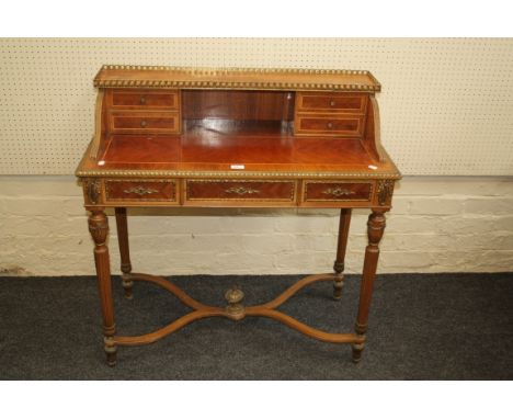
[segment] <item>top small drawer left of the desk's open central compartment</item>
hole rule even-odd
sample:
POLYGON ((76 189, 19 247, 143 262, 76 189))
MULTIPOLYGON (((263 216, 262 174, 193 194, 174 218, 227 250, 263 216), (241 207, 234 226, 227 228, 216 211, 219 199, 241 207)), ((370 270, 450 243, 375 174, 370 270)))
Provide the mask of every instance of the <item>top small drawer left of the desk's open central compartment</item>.
POLYGON ((109 95, 112 107, 140 107, 140 109, 169 109, 180 107, 179 92, 176 90, 113 90, 109 95))

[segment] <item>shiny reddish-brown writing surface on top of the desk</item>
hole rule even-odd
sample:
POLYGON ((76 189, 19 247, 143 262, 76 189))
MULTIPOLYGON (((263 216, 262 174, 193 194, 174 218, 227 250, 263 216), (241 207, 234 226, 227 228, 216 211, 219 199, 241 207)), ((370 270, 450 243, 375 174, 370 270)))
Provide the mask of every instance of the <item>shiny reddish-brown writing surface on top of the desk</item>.
POLYGON ((113 135, 102 159, 112 165, 185 165, 232 163, 287 165, 290 169, 316 170, 318 166, 368 166, 376 163, 360 140, 346 138, 298 138, 290 135, 241 136, 196 129, 181 136, 113 135))

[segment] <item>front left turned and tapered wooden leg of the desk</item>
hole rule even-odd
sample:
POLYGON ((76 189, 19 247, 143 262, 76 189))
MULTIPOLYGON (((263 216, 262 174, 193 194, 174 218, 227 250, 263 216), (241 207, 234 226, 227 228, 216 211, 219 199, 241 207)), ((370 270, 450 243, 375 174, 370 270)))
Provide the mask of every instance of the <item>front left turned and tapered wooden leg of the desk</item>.
POLYGON ((96 265, 98 291, 103 316, 104 349, 107 364, 116 364, 116 344, 114 335, 114 306, 112 302, 111 267, 106 238, 109 236, 109 222, 103 208, 93 210, 89 215, 89 231, 94 240, 94 262, 96 265))

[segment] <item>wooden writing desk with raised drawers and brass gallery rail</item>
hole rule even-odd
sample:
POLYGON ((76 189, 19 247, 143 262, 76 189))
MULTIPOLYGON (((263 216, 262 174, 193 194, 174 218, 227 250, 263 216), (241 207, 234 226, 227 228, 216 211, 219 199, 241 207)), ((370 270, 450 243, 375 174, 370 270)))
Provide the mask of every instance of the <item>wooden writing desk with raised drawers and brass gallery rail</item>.
POLYGON ((373 283, 395 181, 400 173, 379 143, 379 83, 367 71, 187 69, 104 66, 94 137, 77 169, 94 240, 104 349, 109 365, 118 346, 155 342, 197 319, 274 318, 321 341, 364 349, 373 283), (192 299, 161 276, 132 272, 126 207, 341 208, 334 273, 310 275, 282 295, 244 307, 228 290, 226 307, 192 299), (152 282, 193 312, 144 336, 116 335, 105 207, 114 207, 125 295, 134 281, 152 282), (371 208, 355 331, 328 333, 276 308, 318 281, 340 298, 351 211, 371 208))

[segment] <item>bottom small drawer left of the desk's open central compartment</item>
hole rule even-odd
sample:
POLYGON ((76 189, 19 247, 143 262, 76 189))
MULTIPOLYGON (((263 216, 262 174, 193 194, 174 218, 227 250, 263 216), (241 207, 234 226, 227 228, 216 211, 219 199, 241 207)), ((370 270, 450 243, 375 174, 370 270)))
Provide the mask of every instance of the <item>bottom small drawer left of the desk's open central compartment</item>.
POLYGON ((114 134, 179 134, 180 115, 178 112, 111 112, 109 128, 114 134))

